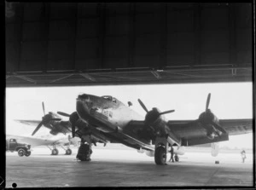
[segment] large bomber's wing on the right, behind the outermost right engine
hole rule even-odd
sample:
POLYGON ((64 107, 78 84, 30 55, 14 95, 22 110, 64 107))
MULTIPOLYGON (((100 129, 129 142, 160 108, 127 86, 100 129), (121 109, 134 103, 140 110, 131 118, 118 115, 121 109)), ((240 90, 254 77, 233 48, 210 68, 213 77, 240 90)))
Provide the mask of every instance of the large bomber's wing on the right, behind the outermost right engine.
POLYGON ((220 119, 219 124, 227 134, 216 136, 213 140, 207 138, 207 131, 197 120, 172 120, 168 127, 181 138, 182 144, 187 146, 229 140, 229 135, 241 135, 253 132, 252 119, 220 119))

